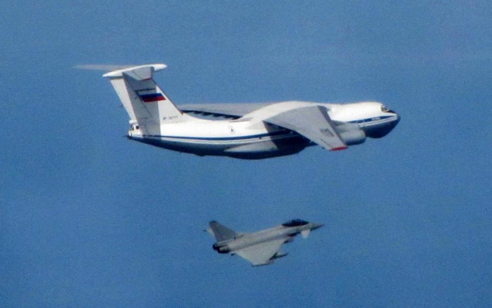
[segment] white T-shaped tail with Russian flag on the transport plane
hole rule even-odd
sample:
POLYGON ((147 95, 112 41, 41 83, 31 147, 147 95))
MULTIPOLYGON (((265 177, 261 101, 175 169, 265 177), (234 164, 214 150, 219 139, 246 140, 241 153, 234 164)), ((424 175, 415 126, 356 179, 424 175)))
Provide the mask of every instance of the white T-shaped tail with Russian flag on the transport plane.
POLYGON ((190 118, 171 102, 152 79, 155 71, 166 67, 166 64, 141 65, 103 75, 110 79, 127 110, 131 129, 139 129, 142 135, 159 135, 161 124, 184 122, 190 118))

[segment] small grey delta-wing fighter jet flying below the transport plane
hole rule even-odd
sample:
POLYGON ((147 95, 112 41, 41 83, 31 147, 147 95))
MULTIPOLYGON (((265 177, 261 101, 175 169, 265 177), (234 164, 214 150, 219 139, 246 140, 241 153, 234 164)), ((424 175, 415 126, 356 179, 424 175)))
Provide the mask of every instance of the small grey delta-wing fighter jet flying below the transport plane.
POLYGON ((207 231, 217 240, 212 247, 219 254, 237 254, 250 261, 253 266, 259 266, 272 264, 275 259, 285 257, 287 253, 280 252, 284 243, 292 242, 298 234, 306 238, 311 230, 322 226, 294 219, 255 233, 236 233, 216 221, 211 221, 207 231))

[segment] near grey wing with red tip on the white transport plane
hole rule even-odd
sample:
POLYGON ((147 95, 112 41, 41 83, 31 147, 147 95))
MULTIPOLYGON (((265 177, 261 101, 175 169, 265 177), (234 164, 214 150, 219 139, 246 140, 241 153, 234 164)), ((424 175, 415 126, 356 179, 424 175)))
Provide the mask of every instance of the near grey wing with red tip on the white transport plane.
POLYGON ((287 110, 263 120, 293 130, 327 150, 343 150, 347 145, 335 130, 324 106, 306 106, 287 110))

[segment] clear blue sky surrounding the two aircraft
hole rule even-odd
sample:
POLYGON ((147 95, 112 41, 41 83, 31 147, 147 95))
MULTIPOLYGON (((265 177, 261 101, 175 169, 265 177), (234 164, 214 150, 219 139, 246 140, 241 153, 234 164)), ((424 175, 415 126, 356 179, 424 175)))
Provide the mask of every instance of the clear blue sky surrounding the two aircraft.
POLYGON ((0 306, 492 304, 490 2, 0 4, 0 306), (377 100, 380 140, 262 161, 128 141, 100 72, 169 68, 176 103, 377 100), (274 265, 216 219, 324 223, 274 265))

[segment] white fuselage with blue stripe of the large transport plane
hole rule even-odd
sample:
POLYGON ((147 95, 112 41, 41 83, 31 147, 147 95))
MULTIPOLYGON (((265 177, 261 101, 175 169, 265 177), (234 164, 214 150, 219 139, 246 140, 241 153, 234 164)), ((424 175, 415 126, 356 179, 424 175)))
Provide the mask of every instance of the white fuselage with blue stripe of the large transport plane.
POLYGON ((263 120, 279 112, 310 105, 326 107, 333 121, 357 125, 355 127, 363 130, 367 137, 383 137, 399 121, 398 114, 385 109, 377 102, 343 105, 281 102, 257 109, 236 120, 207 120, 188 115, 186 121, 179 123, 162 121, 159 129, 153 130, 159 133, 147 133, 143 127, 132 125, 128 137, 200 156, 221 155, 258 159, 289 155, 313 143, 294 131, 265 123, 263 120))

